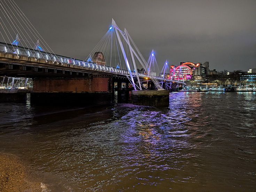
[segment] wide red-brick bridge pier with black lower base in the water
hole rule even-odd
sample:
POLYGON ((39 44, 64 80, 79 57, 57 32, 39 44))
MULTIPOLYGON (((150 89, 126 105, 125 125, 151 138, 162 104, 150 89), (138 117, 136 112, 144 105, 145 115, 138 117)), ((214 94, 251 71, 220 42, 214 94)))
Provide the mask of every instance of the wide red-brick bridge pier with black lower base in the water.
POLYGON ((35 79, 31 103, 38 105, 89 106, 112 102, 112 76, 35 79))

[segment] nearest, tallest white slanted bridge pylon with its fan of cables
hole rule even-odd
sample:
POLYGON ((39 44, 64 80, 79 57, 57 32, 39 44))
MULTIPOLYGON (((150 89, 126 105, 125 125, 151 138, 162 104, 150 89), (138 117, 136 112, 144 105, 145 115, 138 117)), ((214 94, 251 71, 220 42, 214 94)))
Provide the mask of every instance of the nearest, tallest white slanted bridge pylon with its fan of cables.
POLYGON ((121 31, 114 19, 112 19, 111 27, 107 33, 84 61, 90 59, 94 64, 127 70, 128 73, 125 76, 135 90, 147 89, 146 85, 143 84, 145 79, 147 81, 150 79, 158 90, 162 90, 159 77, 152 75, 154 73, 127 30, 121 31))

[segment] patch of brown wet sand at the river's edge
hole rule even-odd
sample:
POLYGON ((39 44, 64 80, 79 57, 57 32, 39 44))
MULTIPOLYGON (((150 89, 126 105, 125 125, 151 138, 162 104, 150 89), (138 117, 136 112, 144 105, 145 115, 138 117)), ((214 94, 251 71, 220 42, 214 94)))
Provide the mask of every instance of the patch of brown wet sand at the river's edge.
POLYGON ((0 192, 44 192, 31 181, 30 170, 14 155, 0 153, 0 192))

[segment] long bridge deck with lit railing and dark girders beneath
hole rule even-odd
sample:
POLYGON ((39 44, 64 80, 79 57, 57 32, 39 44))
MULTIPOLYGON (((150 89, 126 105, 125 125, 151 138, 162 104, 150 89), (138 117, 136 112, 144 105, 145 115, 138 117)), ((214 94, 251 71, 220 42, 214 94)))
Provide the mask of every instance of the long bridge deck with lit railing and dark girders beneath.
MULTIPOLYGON (((34 49, 23 48, 16 45, 6 44, 0 42, 0 63, 2 64, 15 64, 20 65, 21 70, 13 70, 11 67, 1 68, 0 75, 20 75, 20 76, 40 76, 40 73, 36 73, 38 69, 36 68, 45 68, 53 70, 64 70, 62 75, 65 75, 67 71, 70 74, 78 73, 93 73, 93 74, 111 74, 119 76, 129 76, 128 70, 118 69, 109 66, 96 65, 92 62, 86 62, 78 59, 71 59, 69 57, 54 55, 53 53, 42 52, 34 49), (16 49, 16 50, 15 50, 16 49), (29 72, 24 73, 22 66, 31 67, 29 72)), ((45 75, 45 70, 41 71, 45 75)), ((56 75, 61 73, 55 73, 56 75)), ((135 72, 132 72, 133 77, 136 77, 135 72)), ((158 81, 171 82, 170 79, 164 79, 152 75, 140 74, 139 78, 154 78, 158 81)))

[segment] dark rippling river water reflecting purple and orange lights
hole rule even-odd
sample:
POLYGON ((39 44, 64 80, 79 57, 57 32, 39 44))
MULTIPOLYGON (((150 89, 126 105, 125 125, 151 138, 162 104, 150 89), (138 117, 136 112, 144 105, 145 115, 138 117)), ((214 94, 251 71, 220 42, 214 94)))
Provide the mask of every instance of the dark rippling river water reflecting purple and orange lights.
POLYGON ((256 190, 256 93, 170 93, 170 106, 0 103, 0 152, 51 192, 256 190))

